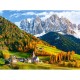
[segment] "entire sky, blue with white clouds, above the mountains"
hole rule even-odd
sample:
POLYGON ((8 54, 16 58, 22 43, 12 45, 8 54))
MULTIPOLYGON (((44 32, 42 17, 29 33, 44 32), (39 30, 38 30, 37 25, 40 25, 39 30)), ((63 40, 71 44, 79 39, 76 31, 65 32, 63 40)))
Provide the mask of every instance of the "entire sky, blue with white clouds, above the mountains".
POLYGON ((63 16, 73 24, 80 24, 79 10, 0 10, 0 16, 5 17, 18 26, 20 26, 20 21, 23 19, 30 21, 39 16, 42 20, 45 20, 53 14, 57 14, 59 17, 63 16))

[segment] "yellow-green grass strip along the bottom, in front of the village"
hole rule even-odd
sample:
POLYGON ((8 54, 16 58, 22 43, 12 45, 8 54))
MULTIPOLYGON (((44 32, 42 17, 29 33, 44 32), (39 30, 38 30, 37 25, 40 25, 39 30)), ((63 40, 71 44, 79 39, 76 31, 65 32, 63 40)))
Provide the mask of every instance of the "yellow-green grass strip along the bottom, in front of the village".
POLYGON ((16 63, 12 65, 0 65, 0 69, 3 70, 79 70, 80 68, 74 67, 61 67, 57 64, 47 63, 16 63))

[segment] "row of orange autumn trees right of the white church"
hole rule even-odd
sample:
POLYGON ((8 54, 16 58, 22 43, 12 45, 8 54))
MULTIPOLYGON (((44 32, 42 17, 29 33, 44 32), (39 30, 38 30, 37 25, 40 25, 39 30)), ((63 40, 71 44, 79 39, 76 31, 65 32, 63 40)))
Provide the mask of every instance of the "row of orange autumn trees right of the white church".
POLYGON ((69 52, 61 52, 56 55, 50 56, 50 63, 61 62, 61 61, 71 61, 74 60, 73 55, 74 51, 69 52))

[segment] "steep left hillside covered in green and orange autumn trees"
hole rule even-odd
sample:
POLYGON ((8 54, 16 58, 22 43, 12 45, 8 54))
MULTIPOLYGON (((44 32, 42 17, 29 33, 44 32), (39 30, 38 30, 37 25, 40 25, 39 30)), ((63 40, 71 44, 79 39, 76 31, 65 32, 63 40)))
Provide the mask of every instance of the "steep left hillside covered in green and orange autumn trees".
POLYGON ((38 42, 45 43, 0 16, 0 50, 27 52, 38 42))

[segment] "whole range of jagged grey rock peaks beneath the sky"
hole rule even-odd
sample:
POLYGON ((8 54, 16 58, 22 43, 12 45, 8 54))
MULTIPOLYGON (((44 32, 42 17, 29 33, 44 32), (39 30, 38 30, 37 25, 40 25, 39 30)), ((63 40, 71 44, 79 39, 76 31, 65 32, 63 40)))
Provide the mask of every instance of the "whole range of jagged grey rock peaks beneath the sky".
MULTIPOLYGON (((63 34, 75 35, 75 28, 77 26, 64 17, 59 18, 57 15, 52 15, 45 21, 41 20, 38 16, 30 22, 23 20, 20 27, 33 35, 43 32, 61 32, 63 34)), ((80 30, 80 25, 78 25, 78 30, 80 30)))

